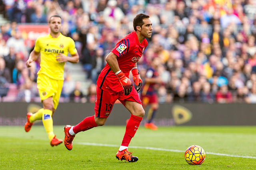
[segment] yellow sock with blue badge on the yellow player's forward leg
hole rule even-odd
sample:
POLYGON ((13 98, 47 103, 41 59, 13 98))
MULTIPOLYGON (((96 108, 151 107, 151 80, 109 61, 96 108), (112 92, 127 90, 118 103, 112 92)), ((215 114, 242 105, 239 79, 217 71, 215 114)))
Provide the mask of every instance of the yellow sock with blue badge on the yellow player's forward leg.
POLYGON ((48 138, 50 141, 52 141, 52 138, 54 138, 55 135, 53 133, 53 121, 52 121, 52 111, 51 110, 44 109, 42 121, 44 124, 44 129, 46 130, 46 133, 48 135, 48 138))

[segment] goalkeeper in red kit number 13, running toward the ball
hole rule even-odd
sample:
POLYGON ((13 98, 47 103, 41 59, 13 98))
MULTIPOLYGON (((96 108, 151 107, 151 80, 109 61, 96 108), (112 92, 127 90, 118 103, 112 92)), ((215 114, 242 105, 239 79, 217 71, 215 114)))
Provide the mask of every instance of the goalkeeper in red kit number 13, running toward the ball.
POLYGON ((138 160, 138 157, 132 156, 131 152, 128 151, 128 145, 145 114, 138 96, 142 80, 137 69, 137 62, 148 45, 145 38, 150 38, 152 35, 152 22, 148 15, 138 14, 133 20, 133 27, 135 31, 116 43, 116 47, 106 57, 107 64, 97 80, 95 114, 86 117, 75 126, 66 125, 64 127, 64 145, 68 150, 72 149, 72 141, 76 133, 104 125, 111 114, 114 103, 119 100, 130 111, 131 115, 126 124, 124 138, 116 153, 116 158, 128 162, 138 160), (128 78, 130 71, 132 71, 136 89, 128 78))

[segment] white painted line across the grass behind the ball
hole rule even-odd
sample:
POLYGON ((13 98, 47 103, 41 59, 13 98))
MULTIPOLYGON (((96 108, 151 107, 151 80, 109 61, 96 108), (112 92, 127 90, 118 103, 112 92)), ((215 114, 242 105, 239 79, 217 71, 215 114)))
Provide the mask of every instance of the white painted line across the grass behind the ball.
MULTIPOLYGON (((90 146, 98 146, 98 147, 120 147, 119 145, 109 145, 109 144, 102 144, 102 143, 85 143, 85 142, 78 142, 78 145, 90 145, 90 146)), ((153 147, 134 147, 129 146, 129 148, 135 149, 148 149, 148 150, 163 150, 168 152, 185 152, 183 150, 174 150, 174 149, 162 149, 162 148, 153 148, 153 147)), ((206 154, 213 154, 218 156, 230 156, 230 157, 238 157, 238 158, 250 158, 256 159, 254 156, 241 156, 241 155, 232 155, 232 154, 222 154, 222 153, 214 153, 214 152, 206 152, 206 154)))

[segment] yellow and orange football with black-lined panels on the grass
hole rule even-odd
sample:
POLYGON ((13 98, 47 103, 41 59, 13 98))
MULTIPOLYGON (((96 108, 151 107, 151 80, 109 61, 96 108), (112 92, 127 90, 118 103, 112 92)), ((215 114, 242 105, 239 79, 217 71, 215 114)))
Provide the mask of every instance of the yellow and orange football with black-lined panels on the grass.
POLYGON ((198 145, 192 145, 185 151, 185 160, 190 165, 200 165, 204 162, 205 152, 204 149, 198 145))

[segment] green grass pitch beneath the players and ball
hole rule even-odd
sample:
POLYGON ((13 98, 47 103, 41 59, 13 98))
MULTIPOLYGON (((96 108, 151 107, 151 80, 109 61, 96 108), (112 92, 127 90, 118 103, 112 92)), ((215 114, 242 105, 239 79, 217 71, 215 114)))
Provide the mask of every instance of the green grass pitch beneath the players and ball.
MULTIPOLYGON (((63 126, 54 133, 64 139, 63 126)), ((115 158, 125 126, 103 126, 78 133, 73 149, 51 147, 41 125, 26 133, 23 126, 0 126, 1 170, 177 170, 256 169, 256 127, 174 126, 151 131, 140 127, 129 151, 138 162, 115 158), (189 165, 185 150, 199 145, 206 152, 201 165, 189 165)))

